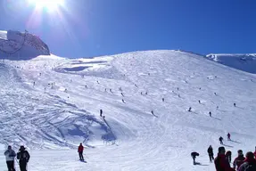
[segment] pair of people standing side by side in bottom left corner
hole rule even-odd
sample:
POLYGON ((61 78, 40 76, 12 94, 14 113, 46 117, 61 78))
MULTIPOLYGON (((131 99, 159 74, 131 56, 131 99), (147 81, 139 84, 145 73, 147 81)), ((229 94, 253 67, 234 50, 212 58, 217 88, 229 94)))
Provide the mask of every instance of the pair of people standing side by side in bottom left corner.
POLYGON ((15 151, 12 150, 12 146, 9 145, 8 149, 6 151, 4 151, 4 156, 6 159, 8 171, 15 171, 14 160, 15 160, 16 156, 17 156, 17 159, 19 159, 18 164, 20 165, 20 170, 27 171, 27 164, 29 162, 30 155, 29 155, 29 152, 26 151, 26 149, 23 145, 21 145, 21 148, 17 154, 15 151))

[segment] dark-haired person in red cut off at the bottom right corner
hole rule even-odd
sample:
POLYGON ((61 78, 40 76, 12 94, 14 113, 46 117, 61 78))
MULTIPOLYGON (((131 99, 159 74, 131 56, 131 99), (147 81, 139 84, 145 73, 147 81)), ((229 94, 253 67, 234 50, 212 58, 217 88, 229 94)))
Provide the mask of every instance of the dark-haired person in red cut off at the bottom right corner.
POLYGON ((244 163, 238 168, 238 171, 255 171, 256 170, 256 159, 253 158, 251 151, 246 153, 246 159, 244 163))

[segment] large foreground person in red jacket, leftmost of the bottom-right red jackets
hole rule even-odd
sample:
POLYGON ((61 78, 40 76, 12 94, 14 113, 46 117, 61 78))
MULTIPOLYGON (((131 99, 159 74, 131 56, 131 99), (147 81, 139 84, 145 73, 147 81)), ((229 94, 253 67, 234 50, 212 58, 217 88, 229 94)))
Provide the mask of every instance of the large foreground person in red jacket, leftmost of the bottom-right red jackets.
POLYGON ((219 147, 218 156, 214 159, 216 171, 235 171, 232 167, 230 167, 229 162, 225 156, 225 152, 225 147, 219 147))

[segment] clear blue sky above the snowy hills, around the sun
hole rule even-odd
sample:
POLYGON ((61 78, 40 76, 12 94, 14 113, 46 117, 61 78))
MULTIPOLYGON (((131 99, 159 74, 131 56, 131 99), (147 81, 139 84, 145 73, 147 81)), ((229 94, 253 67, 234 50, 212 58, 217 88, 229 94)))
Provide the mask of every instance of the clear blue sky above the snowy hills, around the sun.
POLYGON ((66 0, 58 12, 36 12, 27 1, 0 1, 0 29, 27 29, 63 57, 256 53, 255 0, 66 0))

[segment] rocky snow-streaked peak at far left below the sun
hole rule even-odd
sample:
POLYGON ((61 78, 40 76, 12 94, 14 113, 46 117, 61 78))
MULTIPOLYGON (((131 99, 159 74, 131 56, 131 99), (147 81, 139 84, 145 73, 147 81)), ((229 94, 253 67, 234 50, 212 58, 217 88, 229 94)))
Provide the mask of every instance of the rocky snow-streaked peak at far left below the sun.
POLYGON ((38 55, 50 55, 48 46, 28 32, 0 30, 0 59, 29 60, 38 55))

